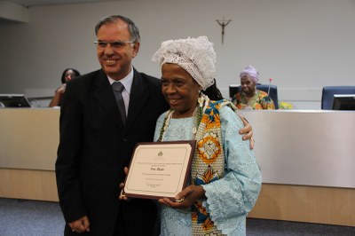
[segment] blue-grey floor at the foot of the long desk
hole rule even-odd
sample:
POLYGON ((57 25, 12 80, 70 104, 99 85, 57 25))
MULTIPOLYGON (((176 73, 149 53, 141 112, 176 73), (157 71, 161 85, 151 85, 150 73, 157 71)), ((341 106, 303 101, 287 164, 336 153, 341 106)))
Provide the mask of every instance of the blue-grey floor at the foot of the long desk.
MULTIPOLYGON (((0 198, 0 236, 63 235, 58 202, 0 198)), ((355 235, 355 227, 248 218, 247 235, 355 235)))

